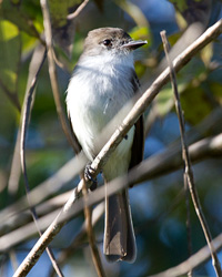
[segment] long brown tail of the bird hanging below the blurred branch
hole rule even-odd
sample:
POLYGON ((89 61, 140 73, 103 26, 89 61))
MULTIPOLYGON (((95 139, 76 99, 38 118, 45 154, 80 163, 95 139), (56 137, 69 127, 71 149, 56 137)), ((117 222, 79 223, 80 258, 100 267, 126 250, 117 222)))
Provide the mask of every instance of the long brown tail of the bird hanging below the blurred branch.
POLYGON ((103 252, 109 261, 133 263, 137 257, 128 189, 105 198, 103 252))

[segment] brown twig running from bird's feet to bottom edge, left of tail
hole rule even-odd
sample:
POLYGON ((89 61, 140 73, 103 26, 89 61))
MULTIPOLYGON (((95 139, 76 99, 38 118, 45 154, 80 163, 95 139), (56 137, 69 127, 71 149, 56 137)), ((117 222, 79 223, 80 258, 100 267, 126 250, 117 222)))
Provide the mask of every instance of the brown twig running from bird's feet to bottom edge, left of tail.
MULTIPOLYGON (((83 182, 83 187, 82 187, 83 199, 87 201, 88 188, 87 188, 84 176, 82 176, 82 182, 83 182)), ((89 238, 89 245, 90 245, 91 254, 92 254, 92 260, 93 260, 98 276, 104 277, 105 273, 102 267, 102 261, 101 261, 100 254, 99 254, 98 247, 95 245, 95 239, 94 239, 94 232, 92 227, 92 211, 91 211, 91 207, 87 205, 84 205, 84 217, 85 217, 85 226, 87 226, 87 234, 89 238)))

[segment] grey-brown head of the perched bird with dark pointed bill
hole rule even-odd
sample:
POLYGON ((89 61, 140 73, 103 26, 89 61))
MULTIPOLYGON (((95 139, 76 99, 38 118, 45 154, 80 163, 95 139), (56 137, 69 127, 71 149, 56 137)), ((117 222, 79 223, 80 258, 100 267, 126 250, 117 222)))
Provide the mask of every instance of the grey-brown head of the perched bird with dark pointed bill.
POLYGON ((100 55, 104 53, 121 54, 144 45, 147 41, 134 41, 120 28, 99 28, 88 33, 84 41, 84 53, 100 55))

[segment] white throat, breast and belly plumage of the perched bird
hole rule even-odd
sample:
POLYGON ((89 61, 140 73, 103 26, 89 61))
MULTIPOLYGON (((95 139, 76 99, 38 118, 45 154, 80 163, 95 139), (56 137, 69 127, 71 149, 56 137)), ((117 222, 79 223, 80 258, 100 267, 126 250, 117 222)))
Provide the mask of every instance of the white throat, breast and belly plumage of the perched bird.
MULTIPOLYGON (((107 140, 109 140, 132 106, 129 104, 125 111, 120 112, 134 95, 130 82, 132 70, 133 57, 121 61, 121 65, 117 59, 113 62, 112 57, 103 57, 103 59, 93 57, 88 61, 81 60, 74 70, 68 88, 68 113, 73 131, 90 160, 93 160, 102 146, 98 148, 95 142, 105 125, 120 113, 111 130, 107 132, 107 140)), ((123 140, 118 146, 112 155, 113 158, 122 160, 128 155, 129 160, 133 133, 134 129, 129 132, 128 140, 123 140)))

